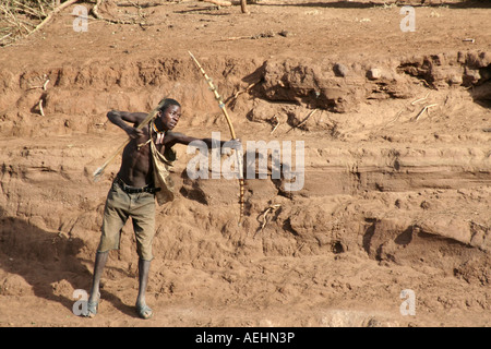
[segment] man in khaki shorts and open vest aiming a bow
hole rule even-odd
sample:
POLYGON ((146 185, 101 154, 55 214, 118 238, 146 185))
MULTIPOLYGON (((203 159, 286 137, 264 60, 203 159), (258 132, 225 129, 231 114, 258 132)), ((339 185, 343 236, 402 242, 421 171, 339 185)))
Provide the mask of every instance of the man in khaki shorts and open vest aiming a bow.
MULTIPOLYGON (((132 218, 139 254, 139 294, 136 312, 142 318, 153 315, 146 304, 145 292, 155 228, 155 197, 159 204, 173 198, 173 184, 168 166, 176 159, 175 144, 203 141, 208 148, 212 139, 195 139, 172 132, 181 118, 181 106, 167 98, 148 125, 137 129, 147 117, 144 112, 109 111, 107 118, 131 139, 122 153, 121 167, 107 195, 100 242, 94 266, 93 286, 87 302, 86 317, 97 314, 100 299, 99 282, 110 250, 119 249, 121 229, 132 218), (133 124, 133 125, 131 125, 133 124)), ((225 142, 220 142, 224 145, 225 142)))

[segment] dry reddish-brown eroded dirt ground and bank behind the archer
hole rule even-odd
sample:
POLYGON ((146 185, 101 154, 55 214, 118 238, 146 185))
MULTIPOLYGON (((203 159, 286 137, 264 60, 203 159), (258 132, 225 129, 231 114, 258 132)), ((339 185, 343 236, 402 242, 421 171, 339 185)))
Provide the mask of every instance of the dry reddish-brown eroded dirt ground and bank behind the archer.
POLYGON ((0 326, 490 326, 491 9, 433 2, 403 32, 402 4, 382 1, 106 1, 99 14, 134 24, 89 13, 75 32, 71 7, 0 48, 0 326), (130 222, 99 314, 79 317, 119 157, 92 173, 125 139, 106 112, 171 96, 177 131, 229 139, 189 50, 244 147, 303 142, 303 185, 247 178, 238 227, 237 180, 190 179, 178 147, 154 317, 133 310, 130 222))

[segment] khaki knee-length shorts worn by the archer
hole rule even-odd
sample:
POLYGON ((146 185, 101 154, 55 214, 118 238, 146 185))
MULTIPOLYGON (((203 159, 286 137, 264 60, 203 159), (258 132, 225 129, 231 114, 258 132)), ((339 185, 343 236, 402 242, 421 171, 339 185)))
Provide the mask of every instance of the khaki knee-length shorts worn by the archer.
POLYGON ((112 182, 106 200, 103 232, 97 252, 119 250, 121 230, 128 218, 132 218, 136 237, 136 252, 140 258, 152 261, 152 241, 155 234, 155 194, 124 192, 112 182))

